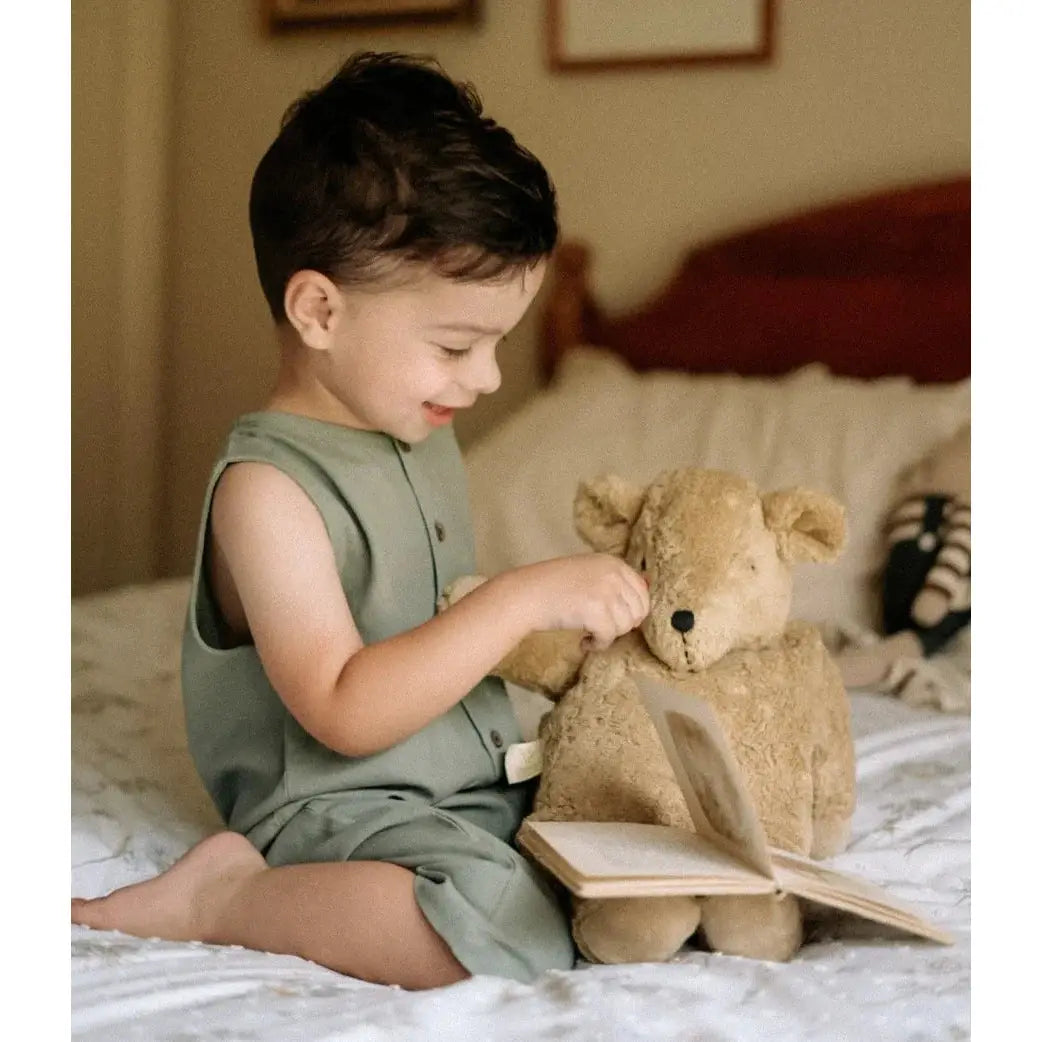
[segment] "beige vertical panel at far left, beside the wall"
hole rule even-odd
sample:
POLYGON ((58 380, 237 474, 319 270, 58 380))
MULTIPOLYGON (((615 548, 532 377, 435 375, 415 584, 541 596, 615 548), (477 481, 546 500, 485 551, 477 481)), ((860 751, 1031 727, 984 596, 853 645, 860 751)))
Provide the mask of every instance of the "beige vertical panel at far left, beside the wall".
POLYGON ((72 7, 74 592, 158 567, 172 2, 72 7))

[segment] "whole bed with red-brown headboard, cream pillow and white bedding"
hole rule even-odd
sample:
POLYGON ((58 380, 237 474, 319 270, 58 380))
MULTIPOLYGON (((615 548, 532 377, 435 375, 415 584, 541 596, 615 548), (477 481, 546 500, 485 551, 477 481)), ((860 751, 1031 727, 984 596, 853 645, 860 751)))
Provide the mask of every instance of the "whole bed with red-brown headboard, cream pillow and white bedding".
MULTIPOLYGON (((620 314, 596 257, 559 250, 546 387, 467 452, 479 564, 578 551, 581 477, 681 465, 804 483, 848 507, 848 549, 797 575, 794 614, 871 635, 895 476, 969 418, 969 183, 845 200, 702 245, 620 314)), ((72 890, 168 867, 220 827, 177 691, 188 582, 72 610, 72 890)), ((939 660, 968 691, 968 634, 939 660)), ((870 639, 870 638, 867 638, 870 639)), ((512 688, 534 734, 547 703, 512 688)), ((73 1036, 142 1039, 958 1039, 969 1036, 969 705, 852 692, 859 805, 836 859, 916 902, 942 947, 830 921, 788 964, 692 946, 661 965, 579 966, 532 985, 410 993, 299 959, 73 927, 73 1036), (948 710, 948 712, 942 712, 948 710), (950 712, 957 709, 959 712, 950 712)))

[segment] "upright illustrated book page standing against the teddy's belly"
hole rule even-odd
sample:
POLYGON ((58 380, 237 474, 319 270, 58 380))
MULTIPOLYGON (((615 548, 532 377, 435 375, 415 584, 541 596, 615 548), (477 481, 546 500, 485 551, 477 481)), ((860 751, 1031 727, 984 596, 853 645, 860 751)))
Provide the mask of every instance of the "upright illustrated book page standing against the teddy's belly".
POLYGON ((695 695, 674 691, 650 677, 634 679, 679 783, 695 830, 773 878, 764 827, 713 710, 695 695))

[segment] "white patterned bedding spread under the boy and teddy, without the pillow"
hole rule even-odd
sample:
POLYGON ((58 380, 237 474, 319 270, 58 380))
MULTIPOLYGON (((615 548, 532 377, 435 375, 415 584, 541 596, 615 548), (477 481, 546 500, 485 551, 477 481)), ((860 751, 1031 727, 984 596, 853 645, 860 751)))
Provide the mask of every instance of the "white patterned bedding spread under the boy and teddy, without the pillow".
MULTIPOLYGON (((184 748, 177 660, 187 585, 75 601, 72 891, 166 868, 219 827, 184 748)), ((514 692, 530 728, 540 702, 514 692)), ((851 920, 785 965, 688 950, 534 985, 410 993, 299 959, 73 927, 73 1037, 163 1040, 932 1040, 969 1037, 969 720, 852 698, 859 807, 839 867, 951 931, 942 947, 851 920)))

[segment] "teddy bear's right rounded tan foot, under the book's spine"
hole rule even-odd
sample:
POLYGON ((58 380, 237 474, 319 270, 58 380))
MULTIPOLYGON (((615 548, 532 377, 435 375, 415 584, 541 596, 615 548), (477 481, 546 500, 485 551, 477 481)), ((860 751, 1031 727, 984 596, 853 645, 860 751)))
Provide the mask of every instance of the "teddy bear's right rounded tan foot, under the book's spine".
POLYGON ((702 929, 714 951, 778 963, 791 959, 803 941, 799 904, 791 894, 706 898, 702 929))

